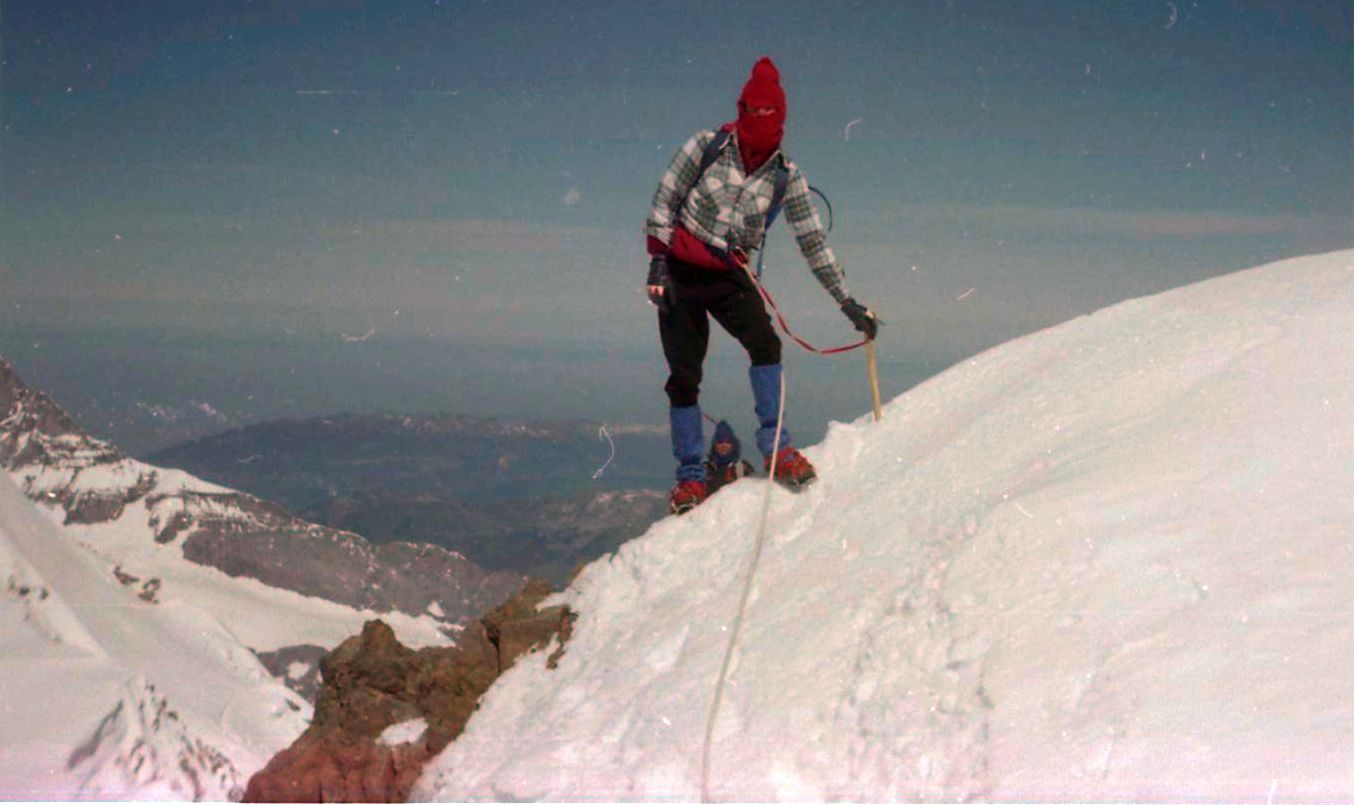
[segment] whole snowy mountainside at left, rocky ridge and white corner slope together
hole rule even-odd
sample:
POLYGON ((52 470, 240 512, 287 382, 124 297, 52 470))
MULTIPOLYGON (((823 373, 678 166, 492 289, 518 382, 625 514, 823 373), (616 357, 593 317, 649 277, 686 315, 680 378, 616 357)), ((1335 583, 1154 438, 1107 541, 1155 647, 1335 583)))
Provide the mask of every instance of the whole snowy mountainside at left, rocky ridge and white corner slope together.
POLYGON ((524 580, 135 461, 3 361, 0 465, 0 798, 238 798, 325 651, 445 645, 524 580))

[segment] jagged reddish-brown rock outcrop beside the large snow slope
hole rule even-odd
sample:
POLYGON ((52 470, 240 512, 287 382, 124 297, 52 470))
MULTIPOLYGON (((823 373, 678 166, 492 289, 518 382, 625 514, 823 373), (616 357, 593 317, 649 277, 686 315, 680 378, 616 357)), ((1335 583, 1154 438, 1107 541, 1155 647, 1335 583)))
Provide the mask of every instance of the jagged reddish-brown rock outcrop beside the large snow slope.
POLYGON ((563 606, 532 582, 466 629, 456 645, 413 651, 382 621, 345 640, 321 663, 324 687, 310 728, 257 773, 246 802, 402 802, 424 764, 464 729, 479 698, 521 655, 569 639, 563 606), (421 735, 390 745, 391 727, 420 722, 421 735))

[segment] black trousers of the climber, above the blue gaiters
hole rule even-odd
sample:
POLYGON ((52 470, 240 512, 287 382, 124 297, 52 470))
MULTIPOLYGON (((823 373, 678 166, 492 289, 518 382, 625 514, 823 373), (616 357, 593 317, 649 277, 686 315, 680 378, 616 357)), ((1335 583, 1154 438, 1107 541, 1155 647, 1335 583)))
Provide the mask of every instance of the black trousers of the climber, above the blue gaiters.
POLYGON ((719 322, 751 359, 751 365, 780 363, 780 337, 761 294, 742 271, 716 271, 669 264, 673 294, 668 313, 658 314, 658 336, 668 359, 668 400, 673 407, 693 406, 709 349, 709 319, 719 322))

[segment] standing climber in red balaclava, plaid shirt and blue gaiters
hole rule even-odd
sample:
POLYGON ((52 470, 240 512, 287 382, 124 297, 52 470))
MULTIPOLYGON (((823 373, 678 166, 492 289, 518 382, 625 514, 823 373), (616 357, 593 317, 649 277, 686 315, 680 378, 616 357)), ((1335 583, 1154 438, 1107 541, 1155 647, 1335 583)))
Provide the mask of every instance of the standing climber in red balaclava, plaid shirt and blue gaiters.
POLYGON ((658 333, 670 372, 665 390, 677 459, 677 486, 670 497, 674 513, 709 497, 699 405, 701 364, 709 345, 707 317, 738 340, 751 360, 757 448, 772 478, 792 488, 815 478, 812 464, 795 449, 787 428, 780 430, 776 467, 770 467, 777 446, 781 345, 746 271, 747 254, 762 244, 781 173, 785 218, 814 276, 857 330, 873 338, 879 326, 875 314, 846 292, 841 267, 810 200, 808 183, 780 150, 784 130, 780 73, 762 57, 738 97, 738 119, 722 127, 724 142, 714 162, 701 172, 705 149, 719 137, 715 131, 688 139, 658 183, 645 222, 649 300, 658 307, 658 333))

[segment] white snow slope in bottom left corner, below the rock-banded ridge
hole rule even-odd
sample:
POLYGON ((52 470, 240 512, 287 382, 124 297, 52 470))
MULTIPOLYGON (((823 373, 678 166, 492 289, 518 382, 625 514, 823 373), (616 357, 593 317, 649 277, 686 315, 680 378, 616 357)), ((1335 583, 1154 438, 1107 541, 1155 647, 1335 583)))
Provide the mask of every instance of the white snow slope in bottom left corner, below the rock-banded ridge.
POLYGON ((0 579, 0 798, 238 798, 306 727, 215 616, 138 598, 5 474, 0 579))

